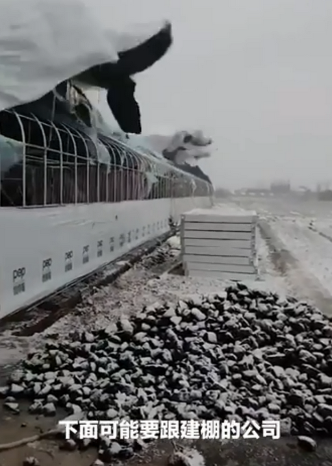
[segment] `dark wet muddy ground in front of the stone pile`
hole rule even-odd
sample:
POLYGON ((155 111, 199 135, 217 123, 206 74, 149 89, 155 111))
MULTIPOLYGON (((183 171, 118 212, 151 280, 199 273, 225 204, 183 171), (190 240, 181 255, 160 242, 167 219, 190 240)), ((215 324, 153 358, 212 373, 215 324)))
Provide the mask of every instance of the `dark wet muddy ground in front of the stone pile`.
MULTIPOLYGON (((41 430, 55 426, 55 418, 34 418, 26 413, 8 415, 1 411, 1 443, 34 436, 41 430)), ((66 452, 60 450, 59 440, 36 441, 14 450, 0 452, 0 466, 21 466, 25 458, 34 456, 40 466, 90 466, 97 458, 97 451, 66 452)), ((206 466, 332 466, 332 441, 318 443, 316 452, 305 452, 296 438, 280 440, 181 441, 181 447, 194 448, 201 453, 206 466)), ((170 441, 148 445, 141 454, 127 461, 127 465, 167 466, 174 451, 170 441)), ((176 465, 173 465, 176 466, 176 465)), ((184 466, 184 465, 179 465, 184 466)), ((201 466, 193 461, 192 466, 201 466)))

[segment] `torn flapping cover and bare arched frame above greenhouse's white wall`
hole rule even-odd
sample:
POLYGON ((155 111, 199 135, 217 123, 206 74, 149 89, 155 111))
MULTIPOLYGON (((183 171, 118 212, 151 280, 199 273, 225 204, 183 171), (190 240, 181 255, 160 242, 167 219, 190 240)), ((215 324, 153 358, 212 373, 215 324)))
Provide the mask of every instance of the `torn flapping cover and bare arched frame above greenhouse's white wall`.
MULTIPOLYGON (((146 198, 155 186, 159 186, 153 194, 157 197, 174 195, 173 183, 165 186, 162 180, 165 173, 168 180, 174 176, 180 180, 177 195, 192 192, 188 183, 191 186, 195 178, 201 195, 210 191, 204 187, 204 182, 210 184, 208 177, 187 163, 209 156, 202 149, 210 144, 203 134, 179 132, 164 140, 161 149, 151 144, 149 136, 135 144, 134 136, 128 135, 142 132, 132 75, 168 51, 173 41, 169 23, 140 25, 130 32, 105 28, 83 0, 3 0, 1 6, 0 167, 1 195, 5 193, 8 205, 29 204, 29 183, 34 183, 30 198, 36 204, 79 198, 85 202, 94 195, 94 201, 99 201, 99 194, 89 194, 85 185, 91 173, 99 176, 89 169, 99 166, 97 160, 104 166, 105 183, 112 179, 107 167, 113 167, 113 184, 118 183, 117 170, 128 172, 127 195, 114 194, 114 199, 146 198), (125 145, 75 82, 107 90, 107 102, 127 133, 125 145), (84 186, 81 193, 79 183, 84 186)), ((91 179, 91 186, 95 180, 91 179)), ((120 182, 121 192, 123 186, 120 182)))

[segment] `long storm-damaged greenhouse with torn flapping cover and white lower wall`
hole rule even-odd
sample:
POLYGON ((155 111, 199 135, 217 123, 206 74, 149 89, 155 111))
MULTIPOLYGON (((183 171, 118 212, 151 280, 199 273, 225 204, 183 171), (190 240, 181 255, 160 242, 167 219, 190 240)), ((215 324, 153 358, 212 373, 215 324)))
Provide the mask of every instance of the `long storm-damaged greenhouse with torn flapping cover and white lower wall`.
POLYGON ((166 234, 170 220, 213 195, 197 166, 212 140, 196 131, 157 142, 142 135, 134 76, 168 52, 170 23, 121 31, 79 0, 5 3, 0 317, 166 234), (91 89, 104 93, 119 130, 91 89))

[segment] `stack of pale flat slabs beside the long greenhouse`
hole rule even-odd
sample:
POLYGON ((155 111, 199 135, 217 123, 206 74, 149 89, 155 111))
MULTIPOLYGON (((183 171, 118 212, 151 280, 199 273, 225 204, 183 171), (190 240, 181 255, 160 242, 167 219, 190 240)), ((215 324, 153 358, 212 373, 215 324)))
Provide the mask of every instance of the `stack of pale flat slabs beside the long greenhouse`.
POLYGON ((188 276, 257 277, 257 213, 215 206, 181 216, 181 254, 188 276))

